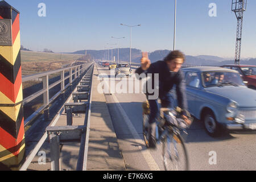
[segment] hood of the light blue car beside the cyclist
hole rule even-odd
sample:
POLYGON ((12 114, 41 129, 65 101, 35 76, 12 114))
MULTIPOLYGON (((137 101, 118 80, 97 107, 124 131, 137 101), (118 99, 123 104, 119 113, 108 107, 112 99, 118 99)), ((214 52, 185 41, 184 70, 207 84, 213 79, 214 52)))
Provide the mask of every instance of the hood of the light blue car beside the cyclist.
POLYGON ((205 88, 208 92, 230 98, 240 107, 256 107, 256 90, 243 86, 213 86, 205 88))

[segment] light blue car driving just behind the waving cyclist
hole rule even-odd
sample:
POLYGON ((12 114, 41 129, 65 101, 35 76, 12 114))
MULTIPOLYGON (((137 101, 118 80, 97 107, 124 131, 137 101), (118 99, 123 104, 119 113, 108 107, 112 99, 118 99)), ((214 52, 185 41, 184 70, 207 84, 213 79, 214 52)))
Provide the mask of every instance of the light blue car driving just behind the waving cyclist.
MULTIPOLYGON (((189 112, 216 137, 221 129, 256 130, 256 90, 240 74, 220 67, 183 68, 189 112)), ((176 106, 176 95, 174 106, 176 106)))

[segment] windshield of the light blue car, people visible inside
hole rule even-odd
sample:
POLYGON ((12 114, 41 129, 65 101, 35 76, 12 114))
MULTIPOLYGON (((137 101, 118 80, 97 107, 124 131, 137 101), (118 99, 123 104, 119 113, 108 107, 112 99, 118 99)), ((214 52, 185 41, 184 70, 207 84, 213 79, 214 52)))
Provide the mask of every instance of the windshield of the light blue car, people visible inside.
POLYGON ((203 84, 206 87, 210 86, 226 86, 226 85, 245 85, 239 73, 234 72, 204 72, 203 84))

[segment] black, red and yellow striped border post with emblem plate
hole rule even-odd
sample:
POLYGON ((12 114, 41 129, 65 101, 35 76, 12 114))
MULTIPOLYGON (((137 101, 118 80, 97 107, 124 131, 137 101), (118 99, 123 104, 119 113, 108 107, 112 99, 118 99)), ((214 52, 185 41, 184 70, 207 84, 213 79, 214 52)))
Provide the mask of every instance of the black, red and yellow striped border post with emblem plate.
POLYGON ((19 11, 5 1, 0 1, 0 83, 0 170, 18 170, 25 150, 19 11))

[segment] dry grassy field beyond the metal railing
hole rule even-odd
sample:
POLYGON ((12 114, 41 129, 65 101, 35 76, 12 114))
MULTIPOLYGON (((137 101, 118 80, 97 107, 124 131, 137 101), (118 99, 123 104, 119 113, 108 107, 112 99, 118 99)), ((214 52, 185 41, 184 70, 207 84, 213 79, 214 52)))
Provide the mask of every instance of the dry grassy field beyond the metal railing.
MULTIPOLYGON (((46 52, 32 52, 32 51, 21 51, 21 67, 22 76, 33 75, 35 73, 52 71, 60 69, 63 65, 74 63, 75 60, 81 58, 84 55, 67 54, 67 53, 46 53, 46 52)), ((60 73, 55 73, 49 76, 49 78, 60 76, 60 73)), ((28 95, 33 94, 38 89, 38 85, 42 80, 30 80, 23 82, 22 88, 28 88, 28 95)), ((51 92, 58 92, 57 86, 55 86, 51 92)), ((38 97, 31 102, 26 104, 24 109, 24 117, 32 114, 35 110, 42 106, 42 98, 38 97)))

